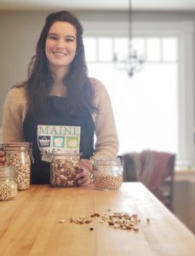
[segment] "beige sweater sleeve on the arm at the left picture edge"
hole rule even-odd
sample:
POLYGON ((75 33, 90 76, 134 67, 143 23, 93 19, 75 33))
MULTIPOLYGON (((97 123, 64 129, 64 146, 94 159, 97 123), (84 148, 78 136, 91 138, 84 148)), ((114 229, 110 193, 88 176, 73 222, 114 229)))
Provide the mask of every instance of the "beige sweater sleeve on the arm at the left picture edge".
POLYGON ((3 105, 3 143, 24 140, 23 119, 25 114, 26 96, 24 87, 9 90, 3 105))

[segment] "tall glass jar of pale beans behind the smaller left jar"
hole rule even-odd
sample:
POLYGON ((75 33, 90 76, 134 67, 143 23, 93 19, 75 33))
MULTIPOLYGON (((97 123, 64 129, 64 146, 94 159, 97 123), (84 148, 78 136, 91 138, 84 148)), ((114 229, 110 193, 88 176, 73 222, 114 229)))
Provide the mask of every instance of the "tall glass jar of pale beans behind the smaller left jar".
POLYGON ((32 143, 7 143, 1 148, 5 152, 5 164, 14 167, 18 190, 29 189, 32 143))

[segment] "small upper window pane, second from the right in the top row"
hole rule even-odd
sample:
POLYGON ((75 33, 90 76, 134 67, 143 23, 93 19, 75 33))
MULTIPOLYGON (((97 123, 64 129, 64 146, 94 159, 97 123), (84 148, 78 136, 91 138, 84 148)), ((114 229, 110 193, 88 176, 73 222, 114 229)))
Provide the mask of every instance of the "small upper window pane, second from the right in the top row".
POLYGON ((160 38, 146 38, 147 61, 160 61, 160 38))

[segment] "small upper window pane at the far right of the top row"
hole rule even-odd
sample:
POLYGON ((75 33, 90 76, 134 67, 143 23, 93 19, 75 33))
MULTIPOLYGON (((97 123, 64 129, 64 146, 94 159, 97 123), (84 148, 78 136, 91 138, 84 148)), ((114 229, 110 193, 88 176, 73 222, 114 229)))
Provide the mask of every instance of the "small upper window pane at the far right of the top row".
POLYGON ((163 38, 163 61, 177 60, 177 39, 163 38))

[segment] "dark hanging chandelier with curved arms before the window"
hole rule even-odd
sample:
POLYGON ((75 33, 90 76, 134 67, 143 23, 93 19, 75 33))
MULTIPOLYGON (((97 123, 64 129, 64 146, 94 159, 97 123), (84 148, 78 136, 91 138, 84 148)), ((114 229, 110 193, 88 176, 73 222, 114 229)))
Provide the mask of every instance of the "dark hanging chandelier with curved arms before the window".
POLYGON ((128 28, 128 55, 121 59, 117 53, 114 53, 113 62, 118 70, 123 70, 129 77, 133 77, 135 72, 141 71, 144 59, 138 55, 137 50, 133 47, 133 11, 131 0, 129 0, 128 28))

